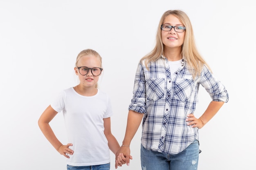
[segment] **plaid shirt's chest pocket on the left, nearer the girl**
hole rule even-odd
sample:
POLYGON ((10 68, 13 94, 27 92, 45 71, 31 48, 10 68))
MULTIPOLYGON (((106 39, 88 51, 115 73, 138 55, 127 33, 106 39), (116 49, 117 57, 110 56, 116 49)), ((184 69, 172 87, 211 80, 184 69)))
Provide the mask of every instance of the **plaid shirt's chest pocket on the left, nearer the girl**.
POLYGON ((164 78, 146 79, 147 99, 157 100, 164 97, 164 78))

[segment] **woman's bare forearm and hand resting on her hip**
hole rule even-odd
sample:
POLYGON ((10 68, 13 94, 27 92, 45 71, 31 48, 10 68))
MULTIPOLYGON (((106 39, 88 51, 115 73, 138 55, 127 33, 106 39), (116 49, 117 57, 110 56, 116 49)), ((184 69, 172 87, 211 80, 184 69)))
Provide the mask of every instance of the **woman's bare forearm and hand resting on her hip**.
POLYGON ((224 102, 211 101, 211 103, 199 119, 195 118, 194 114, 189 114, 186 121, 190 122, 188 122, 187 125, 192 125, 193 128, 202 128, 205 124, 207 124, 208 121, 211 120, 211 118, 213 118, 214 115, 216 115, 216 113, 220 110, 223 104, 224 102))

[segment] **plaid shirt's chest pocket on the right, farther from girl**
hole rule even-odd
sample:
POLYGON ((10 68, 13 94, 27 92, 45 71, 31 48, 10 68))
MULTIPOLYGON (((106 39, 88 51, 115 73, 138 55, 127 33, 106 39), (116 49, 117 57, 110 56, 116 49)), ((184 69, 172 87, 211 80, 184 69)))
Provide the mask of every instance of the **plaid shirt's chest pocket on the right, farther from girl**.
POLYGON ((175 98, 181 102, 189 100, 193 91, 193 79, 177 79, 175 82, 175 98))

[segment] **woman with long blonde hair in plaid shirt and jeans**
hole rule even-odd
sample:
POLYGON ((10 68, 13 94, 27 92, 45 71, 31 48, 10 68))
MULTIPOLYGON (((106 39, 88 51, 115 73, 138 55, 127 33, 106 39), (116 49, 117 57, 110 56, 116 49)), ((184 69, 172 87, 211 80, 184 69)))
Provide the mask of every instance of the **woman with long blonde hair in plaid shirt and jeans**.
POLYGON ((197 170, 198 129, 218 112, 229 95, 198 53, 189 17, 166 11, 159 22, 155 48, 138 64, 126 134, 117 151, 127 158, 141 120, 141 169, 197 170), (194 116, 199 86, 212 101, 194 116))

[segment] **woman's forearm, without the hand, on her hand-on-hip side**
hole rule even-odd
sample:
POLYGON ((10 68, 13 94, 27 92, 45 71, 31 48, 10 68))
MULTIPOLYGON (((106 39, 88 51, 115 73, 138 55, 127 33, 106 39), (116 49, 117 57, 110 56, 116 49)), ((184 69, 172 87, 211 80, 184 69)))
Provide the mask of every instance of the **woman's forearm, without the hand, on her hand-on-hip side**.
POLYGON ((209 104, 205 112, 199 118, 202 121, 203 126, 207 124, 207 122, 210 121, 214 115, 216 115, 216 113, 218 112, 218 110, 220 110, 223 104, 224 102, 216 102, 216 101, 212 101, 209 104))

